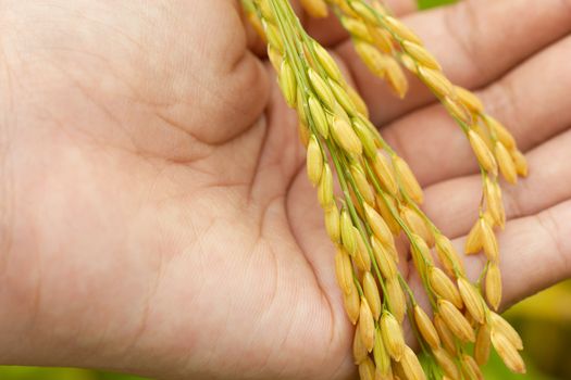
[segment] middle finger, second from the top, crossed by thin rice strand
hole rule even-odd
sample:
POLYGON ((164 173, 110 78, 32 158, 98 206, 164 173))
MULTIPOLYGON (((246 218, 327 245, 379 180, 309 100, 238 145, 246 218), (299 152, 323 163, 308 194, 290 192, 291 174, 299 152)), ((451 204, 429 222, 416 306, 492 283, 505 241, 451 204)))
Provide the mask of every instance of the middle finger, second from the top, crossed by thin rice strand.
MULTIPOLYGON (((571 36, 477 93, 524 151, 571 125, 571 69, 561 65, 570 56, 571 36)), ((477 172, 466 136, 438 104, 398 119, 383 135, 422 185, 477 172)))

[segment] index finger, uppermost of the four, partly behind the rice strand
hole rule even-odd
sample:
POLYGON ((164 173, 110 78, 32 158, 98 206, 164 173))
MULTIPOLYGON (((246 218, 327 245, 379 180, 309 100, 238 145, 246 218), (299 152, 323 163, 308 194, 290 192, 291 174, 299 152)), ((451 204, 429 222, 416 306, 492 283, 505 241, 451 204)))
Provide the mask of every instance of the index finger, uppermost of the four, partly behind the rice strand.
MULTIPOLYGON (((569 34, 571 3, 462 1, 455 7, 415 13, 404 21, 424 39, 454 83, 479 88, 569 34)), ((396 99, 382 80, 369 73, 350 42, 338 51, 349 64, 376 124, 433 101, 424 86, 413 79, 406 100, 396 99)))

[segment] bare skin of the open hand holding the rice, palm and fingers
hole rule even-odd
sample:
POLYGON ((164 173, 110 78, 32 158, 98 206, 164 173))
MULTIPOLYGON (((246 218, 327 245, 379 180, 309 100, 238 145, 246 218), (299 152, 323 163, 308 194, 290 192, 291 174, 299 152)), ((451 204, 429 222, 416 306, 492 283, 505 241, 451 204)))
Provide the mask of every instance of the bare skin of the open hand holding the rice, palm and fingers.
MULTIPOLYGON (((505 186, 504 307, 569 277, 571 2, 392 3, 529 157, 530 177, 505 186)), ((0 363, 355 376, 295 114, 238 9, 0 1, 0 363)), ((331 20, 307 27, 461 246, 480 191, 461 131, 415 80, 394 99, 331 20)), ((472 278, 482 263, 466 258, 472 278)))

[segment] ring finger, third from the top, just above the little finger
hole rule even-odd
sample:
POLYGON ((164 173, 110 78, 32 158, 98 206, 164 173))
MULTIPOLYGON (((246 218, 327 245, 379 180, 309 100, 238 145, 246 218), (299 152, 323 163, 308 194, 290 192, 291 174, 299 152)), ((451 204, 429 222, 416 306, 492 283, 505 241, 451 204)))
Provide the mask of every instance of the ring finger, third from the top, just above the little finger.
MULTIPOLYGON (((571 130, 527 154, 530 176, 504 187, 508 219, 534 215, 571 199, 571 130), (547 191, 546 191, 547 190, 547 191)), ((477 217, 480 175, 456 178, 425 189, 424 211, 447 236, 468 233, 477 217)))

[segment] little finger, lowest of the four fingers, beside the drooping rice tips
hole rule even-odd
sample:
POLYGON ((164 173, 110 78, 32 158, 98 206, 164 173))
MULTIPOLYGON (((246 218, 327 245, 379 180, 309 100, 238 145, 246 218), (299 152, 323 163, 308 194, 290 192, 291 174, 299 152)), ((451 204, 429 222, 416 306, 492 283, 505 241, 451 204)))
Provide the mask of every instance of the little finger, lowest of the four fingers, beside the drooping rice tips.
MULTIPOLYGON (((501 308, 571 276, 571 201, 539 214, 514 219, 498 237, 504 300, 501 308)), ((455 244, 463 246, 466 239, 455 244)), ((469 277, 476 280, 484 258, 464 257, 469 277)))

